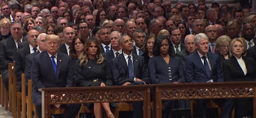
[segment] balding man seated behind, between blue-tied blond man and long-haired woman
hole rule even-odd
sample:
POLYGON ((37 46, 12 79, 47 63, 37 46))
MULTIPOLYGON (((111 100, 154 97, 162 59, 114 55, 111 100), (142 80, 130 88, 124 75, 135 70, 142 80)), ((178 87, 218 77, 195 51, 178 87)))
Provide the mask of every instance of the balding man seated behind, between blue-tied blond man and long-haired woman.
POLYGON ((72 27, 65 27, 63 29, 62 38, 65 43, 60 45, 59 52, 69 55, 72 40, 75 38, 75 30, 72 27))

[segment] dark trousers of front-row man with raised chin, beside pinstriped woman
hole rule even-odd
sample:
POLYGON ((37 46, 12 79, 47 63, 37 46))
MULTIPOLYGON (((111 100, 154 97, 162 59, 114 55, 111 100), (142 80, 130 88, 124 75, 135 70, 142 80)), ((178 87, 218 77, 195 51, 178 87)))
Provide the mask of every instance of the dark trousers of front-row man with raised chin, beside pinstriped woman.
MULTIPOLYGON (((134 82, 129 85, 144 85, 143 82, 134 82)), ((143 93, 143 92, 142 92, 143 93)), ((143 118, 143 102, 132 102, 133 118, 143 118)))

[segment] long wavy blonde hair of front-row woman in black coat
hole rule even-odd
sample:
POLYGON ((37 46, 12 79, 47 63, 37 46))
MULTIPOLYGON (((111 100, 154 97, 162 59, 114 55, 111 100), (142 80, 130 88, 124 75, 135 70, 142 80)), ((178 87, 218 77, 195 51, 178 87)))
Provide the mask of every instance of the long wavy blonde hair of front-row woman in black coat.
POLYGON ((97 53, 95 55, 95 58, 98 60, 97 61, 97 64, 101 64, 103 63, 104 61, 104 57, 102 56, 101 54, 101 48, 100 48, 100 42, 97 38, 88 38, 86 41, 85 41, 85 44, 84 44, 84 51, 81 53, 80 57, 82 60, 80 62, 80 66, 82 66, 82 64, 85 62, 85 64, 88 63, 88 58, 89 58, 89 52, 88 52, 88 48, 90 47, 91 43, 94 42, 96 43, 97 45, 97 53))

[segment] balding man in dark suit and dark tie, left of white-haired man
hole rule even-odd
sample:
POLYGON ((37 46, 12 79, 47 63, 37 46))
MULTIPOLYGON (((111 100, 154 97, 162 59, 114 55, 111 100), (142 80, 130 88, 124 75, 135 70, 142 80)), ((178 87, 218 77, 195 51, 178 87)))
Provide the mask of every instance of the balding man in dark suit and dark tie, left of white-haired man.
POLYGON ((27 38, 28 41, 25 41, 29 42, 29 44, 26 47, 16 51, 14 67, 16 68, 15 75, 17 76, 18 92, 21 92, 21 74, 24 73, 26 66, 25 57, 30 53, 37 52, 39 49, 36 41, 38 35, 38 31, 34 29, 29 30, 27 38))

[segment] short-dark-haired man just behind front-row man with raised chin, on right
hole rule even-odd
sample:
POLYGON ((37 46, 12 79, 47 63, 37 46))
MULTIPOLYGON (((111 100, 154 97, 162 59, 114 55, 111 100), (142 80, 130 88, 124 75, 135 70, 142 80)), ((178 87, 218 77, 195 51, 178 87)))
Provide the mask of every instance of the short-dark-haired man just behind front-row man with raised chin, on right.
POLYGON ((133 32, 133 38, 132 40, 135 42, 135 45, 133 46, 132 53, 137 55, 142 55, 142 46, 145 41, 145 33, 141 29, 137 29, 133 32))

